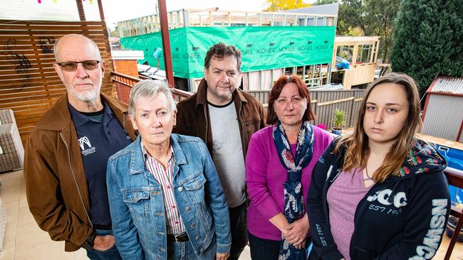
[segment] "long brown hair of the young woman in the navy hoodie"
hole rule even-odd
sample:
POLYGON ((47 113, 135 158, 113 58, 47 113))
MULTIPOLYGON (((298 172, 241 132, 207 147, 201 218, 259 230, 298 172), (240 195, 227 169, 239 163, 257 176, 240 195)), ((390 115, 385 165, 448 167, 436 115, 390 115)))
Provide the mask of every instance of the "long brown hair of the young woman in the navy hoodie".
POLYGON ((398 173, 402 163, 412 148, 418 126, 420 126, 420 95, 415 80, 412 77, 401 73, 390 73, 375 80, 367 90, 363 102, 360 105, 358 117, 355 121, 353 134, 342 136, 336 144, 333 153, 339 153, 340 146, 346 146, 344 155, 343 170, 350 170, 355 167, 365 168, 370 148, 368 148, 368 136, 363 129, 363 118, 365 117, 366 102, 371 91, 378 85, 392 83, 404 87, 408 100, 408 117, 402 126, 402 131, 396 137, 394 143, 387 152, 383 164, 373 174, 375 182, 383 182, 387 177, 398 173))

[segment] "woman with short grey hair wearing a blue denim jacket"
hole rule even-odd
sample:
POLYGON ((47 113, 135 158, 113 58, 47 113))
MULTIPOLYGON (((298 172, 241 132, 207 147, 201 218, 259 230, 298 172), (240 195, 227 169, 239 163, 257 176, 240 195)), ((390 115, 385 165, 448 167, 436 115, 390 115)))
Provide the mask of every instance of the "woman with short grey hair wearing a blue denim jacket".
POLYGON ((115 243, 123 259, 227 259, 227 201, 206 144, 172 134, 169 87, 142 80, 129 114, 137 140, 108 161, 115 243))

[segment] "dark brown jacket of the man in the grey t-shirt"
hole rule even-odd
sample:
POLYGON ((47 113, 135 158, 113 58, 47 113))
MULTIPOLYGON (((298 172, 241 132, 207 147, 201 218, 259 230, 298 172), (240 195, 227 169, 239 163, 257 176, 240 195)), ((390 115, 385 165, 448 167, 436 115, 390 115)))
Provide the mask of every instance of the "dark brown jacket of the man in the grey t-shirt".
MULTIPOLYGON (((212 155, 212 131, 209 124, 209 111, 207 109, 207 82, 204 78, 199 83, 196 94, 182 100, 177 105, 177 126, 174 132, 188 136, 197 136, 207 145, 212 155)), ((236 114, 239 121, 241 145, 243 156, 246 158, 249 139, 251 135, 266 126, 265 113, 262 104, 251 94, 236 89, 233 93, 236 114)), ((225 131, 225 129, 224 129, 225 131)))

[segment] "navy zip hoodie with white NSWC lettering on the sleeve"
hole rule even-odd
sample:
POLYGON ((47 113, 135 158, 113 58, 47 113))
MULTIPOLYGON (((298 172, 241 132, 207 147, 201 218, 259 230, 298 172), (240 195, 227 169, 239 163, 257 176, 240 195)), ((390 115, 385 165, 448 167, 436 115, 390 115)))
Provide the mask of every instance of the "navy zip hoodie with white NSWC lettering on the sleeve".
MULTIPOLYGON (((333 241, 326 193, 343 167, 345 147, 331 143, 313 169, 306 208, 313 250, 309 259, 342 259, 333 241)), ((442 241, 450 195, 446 161, 430 144, 415 140, 399 173, 375 183, 355 209, 350 259, 432 259, 442 241)))

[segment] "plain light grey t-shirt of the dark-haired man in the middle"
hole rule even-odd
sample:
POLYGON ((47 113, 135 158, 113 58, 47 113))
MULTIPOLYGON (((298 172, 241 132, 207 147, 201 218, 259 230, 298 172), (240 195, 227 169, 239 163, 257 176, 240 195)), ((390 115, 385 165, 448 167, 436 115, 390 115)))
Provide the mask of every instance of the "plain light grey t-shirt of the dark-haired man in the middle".
POLYGON ((212 158, 229 207, 246 200, 244 156, 233 100, 224 106, 208 103, 212 129, 212 158))

